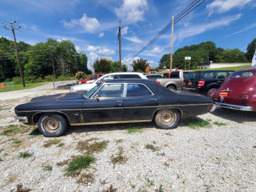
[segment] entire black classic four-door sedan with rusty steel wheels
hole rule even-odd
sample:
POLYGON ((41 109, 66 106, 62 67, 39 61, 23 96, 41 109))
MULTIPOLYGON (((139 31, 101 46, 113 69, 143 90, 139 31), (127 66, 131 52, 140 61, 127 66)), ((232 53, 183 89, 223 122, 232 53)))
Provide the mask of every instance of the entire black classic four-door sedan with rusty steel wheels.
POLYGON ((70 126, 155 121, 172 129, 180 118, 213 111, 209 97, 171 91, 148 79, 103 81, 86 93, 62 93, 31 99, 15 107, 14 118, 38 124, 46 137, 58 137, 70 126))

